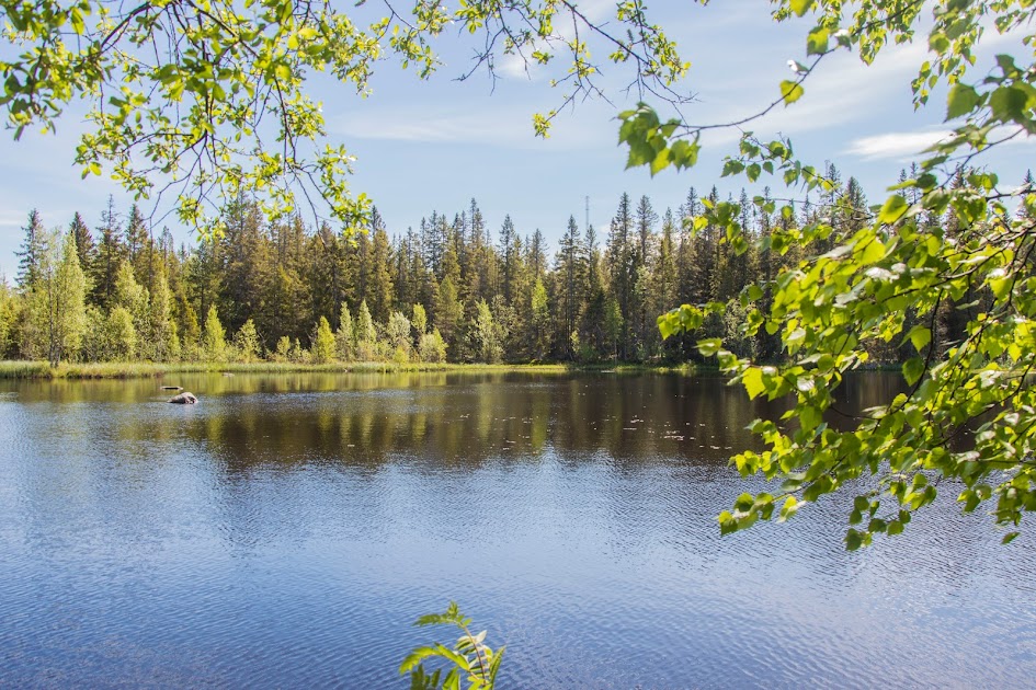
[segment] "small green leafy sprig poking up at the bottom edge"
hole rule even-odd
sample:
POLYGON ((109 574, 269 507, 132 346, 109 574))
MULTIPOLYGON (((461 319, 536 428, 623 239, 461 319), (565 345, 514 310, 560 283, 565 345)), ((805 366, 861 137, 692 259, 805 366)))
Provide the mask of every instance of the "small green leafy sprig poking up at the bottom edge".
POLYGON ((504 647, 496 652, 483 644, 486 631, 471 634, 468 628, 471 619, 464 616, 457 608, 456 601, 451 601, 445 613, 430 613, 419 618, 414 625, 454 625, 464 634, 457 639, 453 648, 434 643, 431 646, 415 647, 399 665, 400 675, 410 674, 412 690, 459 690, 460 683, 466 681, 469 690, 492 690, 497 682, 497 671, 500 669, 500 659, 504 647), (443 668, 436 668, 429 674, 424 670, 423 662, 432 658, 444 659, 449 668, 445 677, 443 668), (452 665, 452 667, 449 667, 452 665))

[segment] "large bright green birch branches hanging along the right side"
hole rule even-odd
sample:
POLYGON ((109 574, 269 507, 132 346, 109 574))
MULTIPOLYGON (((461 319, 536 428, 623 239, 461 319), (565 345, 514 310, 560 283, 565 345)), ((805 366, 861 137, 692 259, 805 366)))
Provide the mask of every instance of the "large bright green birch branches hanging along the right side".
MULTIPOLYGON (((718 340, 705 340, 703 355, 716 356, 752 398, 789 396, 794 405, 779 421, 756 421, 752 430, 766 450, 745 451, 732 461, 745 476, 759 474, 774 490, 743 494, 719 516, 722 532, 759 519, 792 517, 804 504, 839 490, 858 492, 849 516, 850 549, 876 533, 902 531, 911 516, 949 491, 970 513, 988 506, 1013 540, 1026 511, 1036 510, 1036 189, 1004 189, 997 174, 976 165, 990 161, 997 146, 1036 134, 1036 65, 999 55, 995 67, 975 77, 971 68, 983 33, 1014 32, 1034 45, 1033 14, 1026 1, 943 0, 861 2, 847 14, 841 2, 777 2, 775 16, 812 13, 817 20, 807 54, 854 50, 870 62, 883 47, 915 39, 922 10, 931 10, 930 58, 912 82, 924 105, 932 89, 948 84, 946 119, 953 134, 929 149, 918 174, 891 188, 852 232, 839 233, 831 218, 800 228, 774 228, 753 237, 739 222, 737 204, 707 204, 695 228, 722 229, 735 251, 750 245, 784 254, 804 250, 806 258, 772 280, 752 285, 740 297, 748 311, 747 336, 779 336, 787 364, 740 358, 718 340), (937 219, 950 222, 940 223, 937 219), (940 314, 953 312, 966 325, 959 338, 936 337, 940 314), (885 343, 910 347, 902 365, 902 393, 862 417, 835 404, 834 390, 868 360, 868 347, 885 343)), ((802 96, 797 83, 782 84, 783 101, 802 96)), ((641 106, 626 123, 651 122, 641 106)), ((668 123, 654 129, 629 127, 631 164, 665 166, 676 145, 696 146, 699 127, 668 123), (646 133, 641 136, 641 133, 646 133), (645 146, 653 157, 645 159, 645 146), (635 154, 634 152, 637 151, 635 154), (669 158, 667 158, 669 157, 669 158), (659 164, 661 161, 661 164, 659 164)), ((675 161, 672 161, 675 162, 675 161)), ((832 183, 793 154, 787 140, 742 137, 725 175, 750 181, 776 177, 801 191, 830 191, 832 183)), ((782 216, 779 209, 755 199, 782 216)), ((663 336, 693 333, 725 304, 683 304, 659 318, 663 336)))

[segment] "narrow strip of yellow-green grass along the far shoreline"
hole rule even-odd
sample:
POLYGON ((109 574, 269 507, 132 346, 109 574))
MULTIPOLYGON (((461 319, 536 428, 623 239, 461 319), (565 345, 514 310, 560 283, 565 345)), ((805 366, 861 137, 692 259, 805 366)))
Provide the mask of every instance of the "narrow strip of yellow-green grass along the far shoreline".
POLYGON ((286 361, 257 361, 257 363, 140 363, 114 361, 90 364, 61 364, 50 367, 46 361, 0 361, 0 379, 36 379, 36 380, 84 380, 84 379, 158 379, 173 373, 398 373, 420 371, 457 371, 457 372, 555 372, 566 371, 597 371, 615 373, 634 372, 678 372, 693 373, 694 365, 656 366, 641 364, 596 364, 576 365, 566 363, 553 364, 431 364, 431 363, 384 363, 384 361, 354 361, 333 364, 298 364, 286 361))

